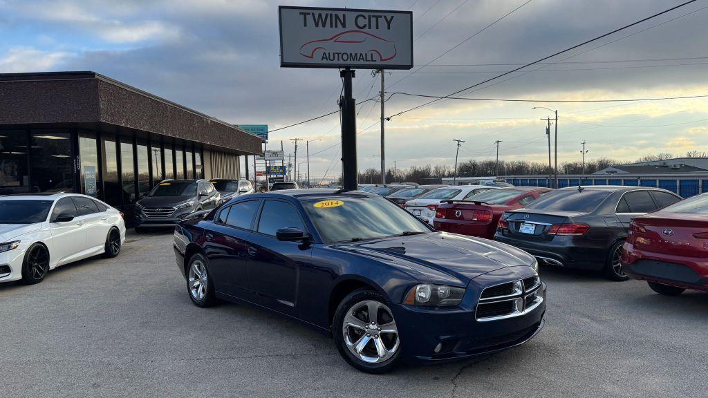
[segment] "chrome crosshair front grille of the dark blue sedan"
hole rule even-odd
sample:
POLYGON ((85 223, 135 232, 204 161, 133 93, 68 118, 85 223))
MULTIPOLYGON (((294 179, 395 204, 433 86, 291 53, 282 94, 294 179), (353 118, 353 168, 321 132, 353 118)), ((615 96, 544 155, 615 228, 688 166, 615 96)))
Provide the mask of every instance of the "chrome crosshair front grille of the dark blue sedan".
POLYGON ((543 300, 538 276, 501 283, 482 290, 474 317, 479 322, 519 317, 536 309, 543 300))

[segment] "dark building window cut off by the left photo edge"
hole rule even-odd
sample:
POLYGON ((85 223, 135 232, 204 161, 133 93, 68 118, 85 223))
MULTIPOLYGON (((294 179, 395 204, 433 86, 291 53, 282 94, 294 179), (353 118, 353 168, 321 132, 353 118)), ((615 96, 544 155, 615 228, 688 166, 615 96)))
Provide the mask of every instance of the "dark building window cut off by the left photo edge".
POLYGON ((0 194, 29 191, 27 132, 0 130, 0 194))

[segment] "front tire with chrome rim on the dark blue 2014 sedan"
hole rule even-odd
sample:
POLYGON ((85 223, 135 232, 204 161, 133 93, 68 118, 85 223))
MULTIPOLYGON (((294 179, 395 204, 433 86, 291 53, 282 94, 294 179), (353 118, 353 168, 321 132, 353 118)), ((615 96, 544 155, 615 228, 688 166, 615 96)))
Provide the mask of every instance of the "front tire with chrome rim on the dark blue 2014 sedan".
POLYGON ((398 326, 384 297, 355 290, 344 297, 332 322, 337 350, 349 365, 365 373, 387 373, 399 362, 398 326))

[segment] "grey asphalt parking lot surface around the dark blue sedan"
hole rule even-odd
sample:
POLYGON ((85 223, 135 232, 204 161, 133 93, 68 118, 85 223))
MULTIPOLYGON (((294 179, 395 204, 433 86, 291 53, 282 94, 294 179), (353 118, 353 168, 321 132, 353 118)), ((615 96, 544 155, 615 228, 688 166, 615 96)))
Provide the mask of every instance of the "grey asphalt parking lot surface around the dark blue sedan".
POLYGON ((708 294, 545 267, 547 324, 466 362, 350 368, 330 339, 250 307, 192 305, 171 234, 129 235, 118 258, 0 285, 3 397, 699 397, 708 294))

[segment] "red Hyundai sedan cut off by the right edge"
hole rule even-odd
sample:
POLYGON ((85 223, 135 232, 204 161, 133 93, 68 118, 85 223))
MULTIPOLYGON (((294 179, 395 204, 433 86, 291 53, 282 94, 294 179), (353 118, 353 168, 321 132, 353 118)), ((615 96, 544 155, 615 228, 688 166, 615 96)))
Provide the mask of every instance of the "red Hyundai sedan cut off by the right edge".
POLYGON ((622 268, 662 295, 708 292, 708 194, 632 220, 622 268))

